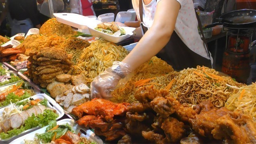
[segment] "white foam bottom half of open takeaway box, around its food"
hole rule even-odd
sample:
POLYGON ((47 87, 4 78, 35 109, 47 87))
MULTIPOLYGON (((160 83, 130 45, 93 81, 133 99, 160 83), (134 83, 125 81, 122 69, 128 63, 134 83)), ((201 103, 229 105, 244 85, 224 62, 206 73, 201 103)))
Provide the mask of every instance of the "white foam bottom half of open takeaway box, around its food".
POLYGON ((133 35, 132 32, 135 30, 135 28, 131 28, 131 27, 121 27, 121 28, 124 28, 126 34, 123 36, 113 36, 113 35, 106 34, 104 32, 95 30, 94 28, 96 28, 96 27, 97 27, 97 24, 94 24, 93 26, 88 26, 89 31, 92 36, 103 38, 105 40, 108 40, 108 41, 114 42, 114 43, 118 43, 118 42, 121 42, 122 40, 125 40, 126 38, 129 38, 130 36, 133 35))

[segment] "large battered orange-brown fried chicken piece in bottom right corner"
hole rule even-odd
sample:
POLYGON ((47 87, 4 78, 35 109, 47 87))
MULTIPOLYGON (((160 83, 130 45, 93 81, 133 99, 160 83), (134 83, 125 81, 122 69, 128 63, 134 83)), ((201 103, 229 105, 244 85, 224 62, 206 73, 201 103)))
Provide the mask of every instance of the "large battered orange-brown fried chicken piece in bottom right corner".
POLYGON ((227 143, 256 142, 256 126, 250 115, 232 112, 225 107, 210 110, 206 109, 207 107, 209 106, 201 108, 200 113, 192 116, 189 120, 193 130, 198 134, 217 140, 224 139, 227 143))

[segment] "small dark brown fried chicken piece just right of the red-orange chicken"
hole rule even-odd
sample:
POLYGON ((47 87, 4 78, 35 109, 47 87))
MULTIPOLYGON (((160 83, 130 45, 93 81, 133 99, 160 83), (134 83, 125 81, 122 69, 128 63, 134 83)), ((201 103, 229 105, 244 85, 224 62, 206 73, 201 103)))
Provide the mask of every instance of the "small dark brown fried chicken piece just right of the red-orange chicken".
POLYGON ((137 103, 137 102, 133 102, 130 106, 128 106, 128 111, 129 112, 146 112, 152 110, 150 103, 137 103))

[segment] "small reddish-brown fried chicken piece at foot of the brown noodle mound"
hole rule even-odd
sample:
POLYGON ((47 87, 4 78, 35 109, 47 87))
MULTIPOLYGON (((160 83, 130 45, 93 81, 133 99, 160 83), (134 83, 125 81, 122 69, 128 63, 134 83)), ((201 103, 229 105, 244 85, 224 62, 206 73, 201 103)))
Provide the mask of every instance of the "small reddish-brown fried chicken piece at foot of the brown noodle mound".
POLYGON ((204 100, 204 101, 200 102, 199 104, 197 104, 196 106, 194 106, 193 110, 195 110, 196 113, 199 114, 200 112, 206 112, 213 108, 215 108, 215 107, 210 100, 204 100))

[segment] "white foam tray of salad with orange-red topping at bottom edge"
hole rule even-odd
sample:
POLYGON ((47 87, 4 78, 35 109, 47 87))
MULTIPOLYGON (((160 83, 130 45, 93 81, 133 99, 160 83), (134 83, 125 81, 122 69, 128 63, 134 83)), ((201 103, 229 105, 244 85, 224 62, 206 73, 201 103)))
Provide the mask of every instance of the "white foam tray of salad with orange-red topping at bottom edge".
POLYGON ((10 144, 47 144, 50 142, 58 144, 62 142, 103 144, 102 140, 94 132, 78 126, 72 119, 64 119, 58 122, 52 121, 49 126, 30 132, 10 142, 10 144))

